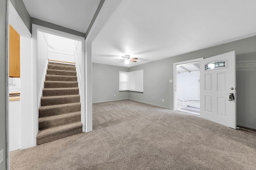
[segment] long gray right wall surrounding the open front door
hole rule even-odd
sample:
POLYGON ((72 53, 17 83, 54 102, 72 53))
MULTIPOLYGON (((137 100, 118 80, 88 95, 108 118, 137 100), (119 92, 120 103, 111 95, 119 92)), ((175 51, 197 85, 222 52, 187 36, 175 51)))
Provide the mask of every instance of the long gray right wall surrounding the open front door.
MULTIPOLYGON (((169 80, 173 79, 173 63, 201 57, 208 58, 229 51, 236 51, 238 63, 245 60, 247 63, 251 63, 252 59, 255 61, 256 36, 130 67, 129 71, 143 69, 144 93, 129 92, 129 99, 173 109, 173 83, 169 83, 169 80)), ((236 80, 237 123, 252 128, 256 128, 255 70, 256 65, 253 65, 249 71, 237 70, 236 80)))

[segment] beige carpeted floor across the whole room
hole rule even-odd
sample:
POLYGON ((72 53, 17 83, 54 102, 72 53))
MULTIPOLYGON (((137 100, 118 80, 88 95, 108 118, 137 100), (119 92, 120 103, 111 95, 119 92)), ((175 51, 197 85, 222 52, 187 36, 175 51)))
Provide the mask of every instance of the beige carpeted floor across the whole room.
POLYGON ((256 133, 124 100, 93 104, 93 131, 21 150, 11 170, 255 170, 256 133))

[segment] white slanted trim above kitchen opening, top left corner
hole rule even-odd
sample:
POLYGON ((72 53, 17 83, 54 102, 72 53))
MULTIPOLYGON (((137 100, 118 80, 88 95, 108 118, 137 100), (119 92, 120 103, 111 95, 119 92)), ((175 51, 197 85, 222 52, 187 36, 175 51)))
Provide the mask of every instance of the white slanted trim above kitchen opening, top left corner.
POLYGON ((14 28, 14 30, 16 30, 16 32, 20 34, 20 36, 31 38, 31 33, 20 18, 18 12, 15 10, 10 0, 8 0, 8 22, 8 28, 10 24, 14 28))

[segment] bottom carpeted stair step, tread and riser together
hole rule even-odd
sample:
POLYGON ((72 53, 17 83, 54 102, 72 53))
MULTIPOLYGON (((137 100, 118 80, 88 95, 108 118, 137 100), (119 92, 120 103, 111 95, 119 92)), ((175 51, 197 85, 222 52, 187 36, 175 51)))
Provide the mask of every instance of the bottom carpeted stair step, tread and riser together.
POLYGON ((78 133, 82 133, 81 122, 40 130, 36 136, 36 144, 51 142, 78 133))

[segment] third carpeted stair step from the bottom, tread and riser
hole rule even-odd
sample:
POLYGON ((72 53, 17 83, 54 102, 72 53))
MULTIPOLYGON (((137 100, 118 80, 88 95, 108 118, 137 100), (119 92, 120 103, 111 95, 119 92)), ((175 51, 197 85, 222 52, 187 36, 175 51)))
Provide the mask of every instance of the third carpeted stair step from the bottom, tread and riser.
POLYGON ((81 103, 68 103, 62 105, 41 106, 39 108, 39 117, 62 115, 65 113, 81 111, 81 103))

